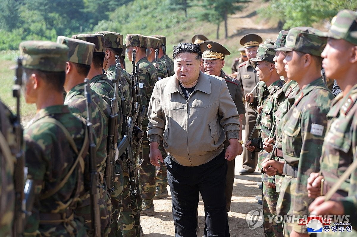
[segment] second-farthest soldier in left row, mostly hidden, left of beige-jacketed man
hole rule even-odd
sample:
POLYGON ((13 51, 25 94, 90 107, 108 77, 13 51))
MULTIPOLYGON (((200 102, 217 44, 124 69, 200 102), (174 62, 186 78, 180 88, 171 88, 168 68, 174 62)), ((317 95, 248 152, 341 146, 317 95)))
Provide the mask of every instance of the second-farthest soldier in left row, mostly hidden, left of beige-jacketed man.
MULTIPOLYGON (((146 48, 146 56, 149 61, 157 68, 157 75, 159 76, 160 79, 164 79, 168 77, 169 75, 167 74, 166 70, 166 65, 163 61, 161 61, 159 58, 157 59, 157 64, 156 64, 156 59, 155 59, 155 49, 160 51, 161 48, 161 40, 156 37, 152 36, 146 36, 147 37, 147 48, 146 48)), ((161 154, 163 157, 167 156, 167 153, 164 149, 164 146, 160 144, 159 149, 161 150, 161 154)), ((148 170, 143 171, 141 173, 147 173, 150 174, 149 176, 145 177, 145 182, 152 183, 148 181, 149 179, 153 180, 155 179, 156 183, 156 190, 155 190, 155 196, 154 199, 161 199, 161 198, 166 198, 168 196, 167 193, 167 169, 165 166, 165 163, 160 163, 160 167, 147 167, 148 170), (155 171, 156 169, 156 171, 155 171), (156 177, 156 178, 155 178, 156 177)))

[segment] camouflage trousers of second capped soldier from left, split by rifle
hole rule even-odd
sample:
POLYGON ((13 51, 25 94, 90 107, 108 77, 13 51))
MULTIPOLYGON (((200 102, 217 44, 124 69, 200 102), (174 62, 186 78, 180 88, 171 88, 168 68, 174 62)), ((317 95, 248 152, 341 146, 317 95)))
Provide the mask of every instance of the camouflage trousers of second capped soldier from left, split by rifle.
MULTIPOLYGON (((90 193, 86 192, 80 197, 78 207, 76 208, 76 215, 84 218, 84 226, 87 229, 88 236, 92 236, 92 217, 90 205, 90 193)), ((111 222, 111 201, 107 188, 101 189, 99 198, 99 211, 100 211, 100 227, 101 236, 108 236, 110 231, 111 222)))

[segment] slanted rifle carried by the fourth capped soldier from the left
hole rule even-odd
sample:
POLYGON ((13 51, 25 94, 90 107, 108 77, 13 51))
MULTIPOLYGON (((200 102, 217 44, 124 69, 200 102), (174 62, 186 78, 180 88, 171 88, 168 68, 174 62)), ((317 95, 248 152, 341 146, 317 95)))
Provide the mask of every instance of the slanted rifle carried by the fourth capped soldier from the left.
MULTIPOLYGON (((119 55, 115 56, 115 65, 116 68, 120 68, 119 62, 119 55)), ((131 150, 131 137, 134 129, 134 121, 130 116, 128 118, 128 112, 126 109, 125 98, 123 95, 123 87, 121 82, 119 81, 119 91, 121 92, 121 109, 123 112, 123 126, 122 126, 122 140, 118 145, 118 152, 119 155, 123 154, 123 161, 126 163, 128 167, 128 174, 129 174, 129 186, 130 186, 130 194, 135 196, 136 192, 136 181, 135 181, 135 166, 134 166, 134 159, 133 153, 131 150)))

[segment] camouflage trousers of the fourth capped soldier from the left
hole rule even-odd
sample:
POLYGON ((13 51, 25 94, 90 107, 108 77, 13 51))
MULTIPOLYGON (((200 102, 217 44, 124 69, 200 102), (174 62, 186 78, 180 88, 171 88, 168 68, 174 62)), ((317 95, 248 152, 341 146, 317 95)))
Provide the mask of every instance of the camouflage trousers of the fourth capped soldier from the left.
POLYGON ((140 147, 132 144, 132 150, 135 153, 135 161, 134 161, 134 174, 135 174, 135 186, 130 186, 130 176, 129 169, 124 161, 122 163, 123 168, 123 193, 122 193, 122 204, 120 209, 120 217, 118 220, 119 226, 121 228, 122 236, 140 236, 140 211, 141 211, 141 195, 139 189, 139 172, 138 172, 138 155, 140 151, 140 147), (131 195, 130 190, 136 189, 137 194, 135 196, 131 195))

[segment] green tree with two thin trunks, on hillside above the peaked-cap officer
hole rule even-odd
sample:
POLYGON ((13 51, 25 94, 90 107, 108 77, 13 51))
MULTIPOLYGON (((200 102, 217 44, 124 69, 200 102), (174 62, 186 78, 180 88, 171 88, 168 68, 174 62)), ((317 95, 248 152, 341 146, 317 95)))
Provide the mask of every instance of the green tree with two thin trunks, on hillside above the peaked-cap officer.
POLYGON ((219 28, 222 21, 225 26, 225 39, 228 37, 227 20, 228 15, 243 10, 243 3, 250 0, 203 0, 201 6, 204 10, 197 14, 197 18, 217 25, 217 39, 219 38, 219 28))

